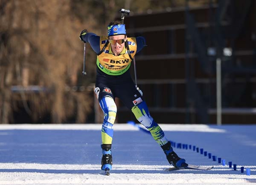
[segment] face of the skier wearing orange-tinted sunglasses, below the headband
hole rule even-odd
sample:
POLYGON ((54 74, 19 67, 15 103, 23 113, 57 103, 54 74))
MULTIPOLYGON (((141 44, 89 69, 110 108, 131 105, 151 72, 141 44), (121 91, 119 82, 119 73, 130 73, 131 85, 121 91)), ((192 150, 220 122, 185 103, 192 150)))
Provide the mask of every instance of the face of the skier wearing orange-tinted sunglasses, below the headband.
POLYGON ((124 48, 124 42, 126 41, 125 35, 114 35, 109 37, 109 42, 111 44, 112 52, 115 54, 120 54, 124 48))

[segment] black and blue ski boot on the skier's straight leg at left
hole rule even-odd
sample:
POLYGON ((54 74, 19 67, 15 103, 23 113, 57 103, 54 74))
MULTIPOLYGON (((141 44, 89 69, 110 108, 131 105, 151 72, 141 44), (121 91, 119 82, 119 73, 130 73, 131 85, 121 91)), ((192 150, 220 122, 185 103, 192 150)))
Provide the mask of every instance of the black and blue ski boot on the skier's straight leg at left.
POLYGON ((111 144, 102 144, 102 159, 101 159, 101 169, 109 171, 112 169, 112 155, 111 155, 111 144))

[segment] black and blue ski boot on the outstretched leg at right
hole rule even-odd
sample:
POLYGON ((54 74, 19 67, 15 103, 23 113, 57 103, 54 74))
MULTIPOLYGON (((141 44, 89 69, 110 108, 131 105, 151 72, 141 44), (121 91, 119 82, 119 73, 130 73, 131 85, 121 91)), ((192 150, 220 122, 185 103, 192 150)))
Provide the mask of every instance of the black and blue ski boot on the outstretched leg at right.
POLYGON ((161 146, 164 150, 168 162, 174 167, 187 167, 185 159, 181 159, 172 149, 171 142, 168 141, 165 145, 161 146))

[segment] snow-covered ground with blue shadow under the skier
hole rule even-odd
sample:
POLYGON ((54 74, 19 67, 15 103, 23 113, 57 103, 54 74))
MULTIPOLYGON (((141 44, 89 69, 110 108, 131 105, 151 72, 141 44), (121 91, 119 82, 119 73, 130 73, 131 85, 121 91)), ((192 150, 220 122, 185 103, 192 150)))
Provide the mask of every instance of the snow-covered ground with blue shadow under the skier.
POLYGON ((181 144, 174 148, 180 157, 214 168, 164 171, 171 166, 148 133, 116 124, 113 170, 105 176, 100 170, 100 124, 0 125, 0 184, 256 184, 256 125, 160 126, 176 146, 181 144), (226 165, 193 151, 193 146, 225 159, 226 165), (228 161, 237 164, 237 171, 228 161))

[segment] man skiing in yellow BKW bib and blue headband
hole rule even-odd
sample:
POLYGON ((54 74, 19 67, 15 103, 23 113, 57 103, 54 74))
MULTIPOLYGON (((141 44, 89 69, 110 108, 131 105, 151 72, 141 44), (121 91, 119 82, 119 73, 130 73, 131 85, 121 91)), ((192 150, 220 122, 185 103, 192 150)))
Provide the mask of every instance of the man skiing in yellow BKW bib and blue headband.
POLYGON ((188 166, 172 149, 171 142, 164 136, 163 130, 150 116, 148 106, 137 90, 129 72, 136 53, 145 46, 144 37, 127 37, 125 25, 114 21, 108 25, 108 37, 97 36, 86 29, 80 33, 80 39, 89 43, 97 53, 97 75, 95 93, 104 113, 101 129, 102 160, 101 169, 112 169, 111 144, 113 125, 116 119, 115 97, 128 107, 136 119, 151 133, 153 139, 161 146, 170 164, 175 167, 188 166))

